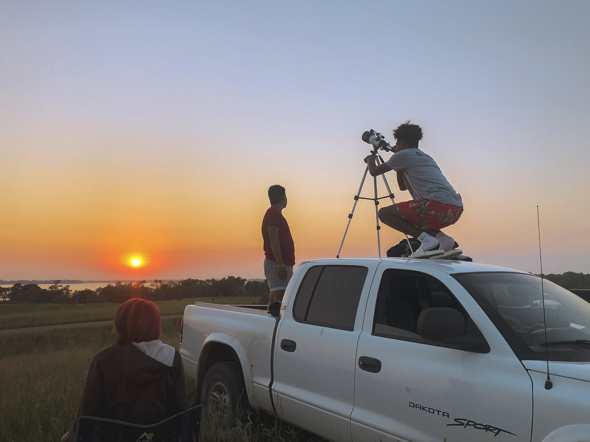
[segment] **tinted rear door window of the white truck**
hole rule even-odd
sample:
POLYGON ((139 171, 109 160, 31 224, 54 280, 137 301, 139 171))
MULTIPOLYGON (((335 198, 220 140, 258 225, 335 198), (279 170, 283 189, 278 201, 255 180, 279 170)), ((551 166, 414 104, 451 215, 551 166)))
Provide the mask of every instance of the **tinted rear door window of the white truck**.
POLYGON ((293 316, 332 328, 353 330, 368 273, 359 266, 316 266, 307 271, 295 304, 293 316))

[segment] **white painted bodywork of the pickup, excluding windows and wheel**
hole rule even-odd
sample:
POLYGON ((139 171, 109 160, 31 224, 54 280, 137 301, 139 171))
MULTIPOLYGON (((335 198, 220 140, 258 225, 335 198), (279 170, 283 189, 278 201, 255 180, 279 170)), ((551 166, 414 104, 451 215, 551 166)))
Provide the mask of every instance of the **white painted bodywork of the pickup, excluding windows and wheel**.
POLYGON ((477 272, 518 273, 445 260, 302 263, 287 287, 279 318, 236 306, 187 306, 181 355, 187 374, 198 380, 211 345, 227 345, 240 360, 254 408, 328 440, 590 442, 590 362, 549 362, 553 388, 545 390, 546 361, 521 361, 478 301, 451 276, 477 272), (295 318, 300 284, 314 266, 368 269, 350 329, 295 318), (398 271, 391 269, 421 272, 441 282, 490 351, 373 332, 379 284, 385 271, 398 271), (281 348, 285 339, 296 348, 281 348), (378 358, 381 371, 360 367, 361 357, 378 358))

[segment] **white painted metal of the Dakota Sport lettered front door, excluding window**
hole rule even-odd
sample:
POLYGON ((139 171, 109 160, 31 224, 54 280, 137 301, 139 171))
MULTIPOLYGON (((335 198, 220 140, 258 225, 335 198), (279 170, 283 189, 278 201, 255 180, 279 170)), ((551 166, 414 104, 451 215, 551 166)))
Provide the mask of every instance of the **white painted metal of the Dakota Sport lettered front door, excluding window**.
MULTIPOLYGON (((389 268, 399 265, 379 266, 375 281, 389 268)), ((514 440, 530 440, 532 385, 525 368, 471 295, 446 273, 430 273, 453 291, 470 314, 481 313, 471 318, 490 344, 490 352, 373 336, 373 309, 367 309, 356 359, 380 355, 383 369, 371 373, 356 367, 353 440, 476 440, 477 434, 468 433, 471 428, 455 425, 467 421, 520 435, 514 440)), ((375 305, 377 291, 373 285, 369 305, 375 305)))

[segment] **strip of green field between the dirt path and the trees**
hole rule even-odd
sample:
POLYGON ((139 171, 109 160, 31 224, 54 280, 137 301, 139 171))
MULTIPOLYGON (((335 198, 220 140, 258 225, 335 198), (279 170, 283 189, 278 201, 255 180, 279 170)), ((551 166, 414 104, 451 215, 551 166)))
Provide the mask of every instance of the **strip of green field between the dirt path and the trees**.
MULTIPOLYGON (((185 306, 199 302, 215 304, 258 304, 258 297, 185 298, 181 301, 158 301, 160 314, 181 315, 185 306)), ((0 329, 41 325, 76 324, 76 322, 110 321, 120 304, 0 304, 0 329)))

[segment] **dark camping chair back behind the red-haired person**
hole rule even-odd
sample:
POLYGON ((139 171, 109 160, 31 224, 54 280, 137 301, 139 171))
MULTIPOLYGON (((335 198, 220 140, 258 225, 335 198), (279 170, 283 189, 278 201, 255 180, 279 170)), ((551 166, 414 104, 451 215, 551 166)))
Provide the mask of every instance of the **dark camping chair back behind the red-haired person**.
POLYGON ((201 405, 159 424, 136 425, 83 416, 78 419, 77 442, 199 442, 201 405))

